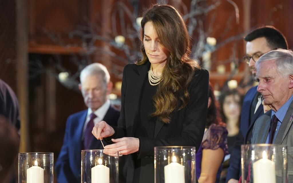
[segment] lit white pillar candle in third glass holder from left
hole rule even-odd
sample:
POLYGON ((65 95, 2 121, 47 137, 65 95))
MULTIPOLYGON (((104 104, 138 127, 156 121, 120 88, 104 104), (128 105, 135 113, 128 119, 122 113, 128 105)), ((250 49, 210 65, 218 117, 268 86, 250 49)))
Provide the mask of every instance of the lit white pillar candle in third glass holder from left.
POLYGON ((176 157, 172 157, 172 163, 164 167, 165 183, 185 183, 184 166, 176 162, 176 157))

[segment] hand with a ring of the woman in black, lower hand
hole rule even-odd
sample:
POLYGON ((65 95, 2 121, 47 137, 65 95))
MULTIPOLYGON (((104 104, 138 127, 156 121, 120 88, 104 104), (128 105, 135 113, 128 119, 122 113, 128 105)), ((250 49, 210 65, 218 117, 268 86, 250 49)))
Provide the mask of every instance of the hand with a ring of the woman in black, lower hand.
POLYGON ((123 137, 112 139, 112 141, 114 142, 113 144, 105 146, 105 154, 114 155, 119 152, 119 155, 127 155, 135 153, 139 149, 139 138, 123 137))

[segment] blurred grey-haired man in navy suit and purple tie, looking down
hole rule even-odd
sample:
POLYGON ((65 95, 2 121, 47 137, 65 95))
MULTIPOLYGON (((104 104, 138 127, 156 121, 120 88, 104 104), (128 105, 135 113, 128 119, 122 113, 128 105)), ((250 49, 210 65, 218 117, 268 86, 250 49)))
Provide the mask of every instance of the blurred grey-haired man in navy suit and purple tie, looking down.
POLYGON ((117 126, 120 112, 107 100, 112 87, 110 75, 102 64, 93 63, 81 71, 79 89, 88 109, 67 119, 64 142, 55 165, 59 183, 80 183, 81 150, 103 149, 100 140, 91 133, 97 122, 105 120, 117 126))

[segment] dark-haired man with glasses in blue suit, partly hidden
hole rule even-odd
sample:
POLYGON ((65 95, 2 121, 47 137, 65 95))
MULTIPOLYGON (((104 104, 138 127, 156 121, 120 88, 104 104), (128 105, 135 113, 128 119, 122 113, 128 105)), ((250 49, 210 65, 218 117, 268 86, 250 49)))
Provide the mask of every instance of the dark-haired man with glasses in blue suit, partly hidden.
MULTIPOLYGON (((255 77, 255 63, 265 53, 282 48, 288 49, 284 35, 273 26, 264 26, 253 30, 244 37, 246 43, 246 55, 243 57, 249 69, 255 77)), ((240 119, 240 131, 229 160, 229 168, 226 182, 238 183, 240 177, 241 144, 251 143, 252 129, 255 120, 263 114, 263 105, 257 86, 252 87, 243 99, 240 119)))

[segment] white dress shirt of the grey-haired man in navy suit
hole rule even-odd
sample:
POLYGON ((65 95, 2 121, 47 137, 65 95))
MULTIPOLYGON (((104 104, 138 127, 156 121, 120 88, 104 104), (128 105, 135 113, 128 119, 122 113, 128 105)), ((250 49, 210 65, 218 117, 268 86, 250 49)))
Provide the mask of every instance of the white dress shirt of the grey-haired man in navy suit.
POLYGON ((100 122, 104 119, 109 107, 111 105, 110 100, 107 100, 100 108, 98 108, 96 111, 92 111, 91 108, 88 108, 88 114, 86 116, 86 122, 84 123, 84 129, 82 131, 82 139, 84 139, 84 131, 86 130, 86 125, 90 121, 91 117, 90 114, 93 112, 96 114, 96 118, 93 120, 93 124, 95 125, 97 122, 100 122))

